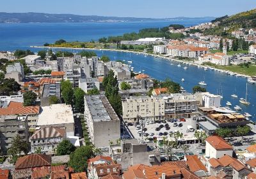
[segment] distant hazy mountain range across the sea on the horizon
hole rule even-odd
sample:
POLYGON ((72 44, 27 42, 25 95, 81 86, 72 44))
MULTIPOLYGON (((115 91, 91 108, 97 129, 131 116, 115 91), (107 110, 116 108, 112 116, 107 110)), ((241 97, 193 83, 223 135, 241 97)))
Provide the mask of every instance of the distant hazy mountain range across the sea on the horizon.
POLYGON ((0 12, 0 23, 32 23, 32 22, 129 22, 148 20, 205 20, 214 17, 175 17, 175 18, 136 18, 136 17, 105 17, 97 15, 49 14, 49 13, 6 13, 0 12))

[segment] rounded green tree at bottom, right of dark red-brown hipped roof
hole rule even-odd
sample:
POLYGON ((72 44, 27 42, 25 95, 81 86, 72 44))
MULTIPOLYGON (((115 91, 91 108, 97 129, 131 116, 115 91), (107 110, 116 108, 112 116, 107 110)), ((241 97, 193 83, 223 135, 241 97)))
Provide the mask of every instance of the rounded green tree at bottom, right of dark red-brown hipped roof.
POLYGON ((92 146, 81 146, 70 154, 68 166, 72 167, 76 172, 83 172, 87 170, 87 160, 94 157, 92 146))

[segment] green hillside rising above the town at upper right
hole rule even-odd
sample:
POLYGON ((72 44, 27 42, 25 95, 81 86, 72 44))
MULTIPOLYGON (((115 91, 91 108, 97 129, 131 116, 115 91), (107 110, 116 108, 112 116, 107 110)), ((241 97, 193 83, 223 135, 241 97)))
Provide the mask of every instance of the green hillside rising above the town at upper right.
POLYGON ((219 23, 218 27, 205 30, 207 35, 227 35, 239 28, 255 28, 256 27, 256 9, 237 13, 236 15, 219 17, 212 20, 213 23, 219 23), (224 27, 228 30, 224 32, 224 27))

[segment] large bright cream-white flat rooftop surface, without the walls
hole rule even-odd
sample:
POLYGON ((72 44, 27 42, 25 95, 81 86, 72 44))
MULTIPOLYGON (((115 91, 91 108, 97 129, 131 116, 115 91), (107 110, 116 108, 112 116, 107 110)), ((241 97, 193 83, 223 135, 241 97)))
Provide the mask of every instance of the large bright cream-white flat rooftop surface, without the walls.
POLYGON ((74 116, 71 105, 52 104, 42 107, 37 125, 55 125, 74 123, 74 116))

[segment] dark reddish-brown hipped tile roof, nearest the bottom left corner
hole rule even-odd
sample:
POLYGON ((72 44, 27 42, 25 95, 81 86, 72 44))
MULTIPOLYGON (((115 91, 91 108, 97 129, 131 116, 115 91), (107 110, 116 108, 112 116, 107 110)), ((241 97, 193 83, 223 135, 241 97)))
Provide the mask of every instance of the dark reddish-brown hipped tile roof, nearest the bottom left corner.
POLYGON ((51 155, 30 154, 20 157, 15 164, 15 169, 26 169, 42 166, 51 166, 51 155))

